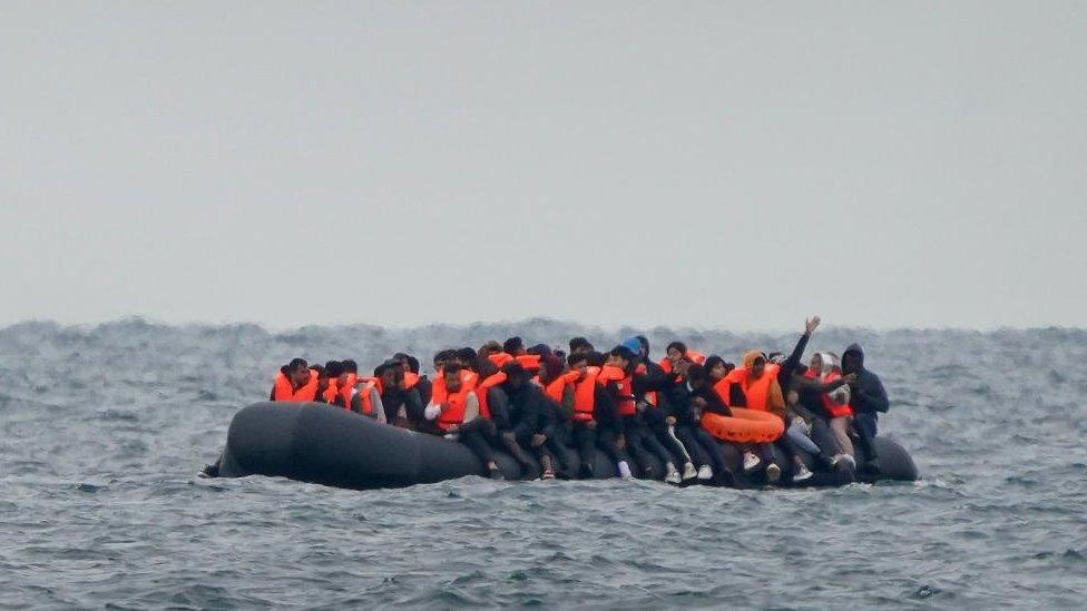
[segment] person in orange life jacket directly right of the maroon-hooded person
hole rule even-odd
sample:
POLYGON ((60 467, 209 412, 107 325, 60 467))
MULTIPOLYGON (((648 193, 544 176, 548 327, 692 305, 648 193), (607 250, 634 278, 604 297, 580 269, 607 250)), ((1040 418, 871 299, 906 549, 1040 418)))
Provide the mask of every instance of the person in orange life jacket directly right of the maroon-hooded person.
POLYGON ((581 459, 580 475, 594 476, 599 447, 615 462, 619 477, 631 477, 630 456, 619 444, 623 423, 611 394, 599 380, 605 356, 595 351, 578 352, 568 357, 567 364, 582 374, 574 385, 574 442, 581 459))

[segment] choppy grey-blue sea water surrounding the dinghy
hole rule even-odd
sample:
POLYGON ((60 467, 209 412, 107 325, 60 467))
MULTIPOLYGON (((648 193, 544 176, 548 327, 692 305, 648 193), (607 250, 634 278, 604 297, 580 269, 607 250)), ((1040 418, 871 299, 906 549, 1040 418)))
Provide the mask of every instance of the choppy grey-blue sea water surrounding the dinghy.
MULTIPOLYGON (((529 341, 587 332, 519 325, 529 341)), ((1087 333, 829 331, 891 394, 918 484, 676 490, 466 479, 351 492, 194 477, 290 356, 372 364, 468 329, 0 329, 0 605, 1083 608, 1087 333)), ((672 334, 654 334, 655 349, 672 334)), ((683 333, 738 358, 793 336, 683 333)))

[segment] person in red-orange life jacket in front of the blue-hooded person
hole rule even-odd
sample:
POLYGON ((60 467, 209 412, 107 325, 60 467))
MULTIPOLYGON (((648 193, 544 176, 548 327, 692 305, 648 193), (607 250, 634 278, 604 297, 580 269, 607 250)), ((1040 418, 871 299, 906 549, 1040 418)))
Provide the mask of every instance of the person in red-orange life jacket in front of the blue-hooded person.
MULTIPOLYGON (((616 376, 621 376, 620 378, 607 380, 606 384, 618 414, 620 425, 618 445, 629 451, 635 462, 642 467, 644 477, 656 479, 656 473, 653 470, 653 457, 646 447, 647 440, 652 437, 656 442, 656 436, 649 432, 639 417, 638 397, 645 392, 645 388, 639 388, 636 384, 638 377, 634 375, 634 371, 637 364, 637 355, 629 347, 616 346, 608 353, 608 363, 604 367, 601 376, 611 375, 609 369, 615 372, 616 376)), ((657 445, 660 445, 659 442, 657 445)), ((674 459, 670 457, 667 460, 668 463, 673 463, 673 461, 674 459)), ((675 469, 674 463, 672 467, 675 469)))

